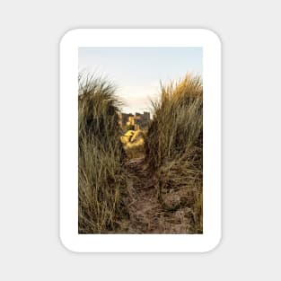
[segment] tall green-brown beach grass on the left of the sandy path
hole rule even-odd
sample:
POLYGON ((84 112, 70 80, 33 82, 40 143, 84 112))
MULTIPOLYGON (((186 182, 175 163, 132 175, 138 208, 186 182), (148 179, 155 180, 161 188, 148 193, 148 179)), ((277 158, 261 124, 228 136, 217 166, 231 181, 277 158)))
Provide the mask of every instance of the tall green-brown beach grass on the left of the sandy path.
POLYGON ((116 88, 105 79, 79 75, 79 233, 108 233, 126 213, 126 180, 116 88))

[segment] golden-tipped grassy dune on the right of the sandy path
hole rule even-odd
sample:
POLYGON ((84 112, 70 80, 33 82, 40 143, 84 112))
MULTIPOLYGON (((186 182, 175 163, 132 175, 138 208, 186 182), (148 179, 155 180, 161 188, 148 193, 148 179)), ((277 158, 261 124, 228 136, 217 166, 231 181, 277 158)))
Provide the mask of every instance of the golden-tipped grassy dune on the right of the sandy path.
POLYGON ((149 170, 158 179, 159 199, 167 211, 185 209, 189 233, 203 231, 203 86, 187 75, 162 86, 154 101, 154 120, 145 137, 149 170))

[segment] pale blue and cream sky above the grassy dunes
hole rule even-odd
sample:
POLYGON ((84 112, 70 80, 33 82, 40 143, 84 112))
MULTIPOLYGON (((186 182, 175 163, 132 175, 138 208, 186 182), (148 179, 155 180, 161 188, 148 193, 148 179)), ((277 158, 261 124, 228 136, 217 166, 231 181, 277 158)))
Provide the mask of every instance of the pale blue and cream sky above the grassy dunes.
POLYGON ((79 48, 79 71, 106 76, 118 87, 124 112, 150 110, 160 81, 203 73, 202 48, 79 48))

